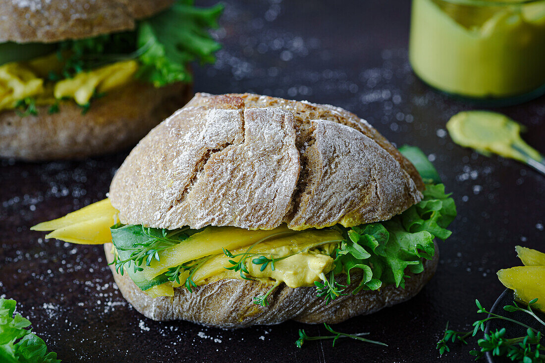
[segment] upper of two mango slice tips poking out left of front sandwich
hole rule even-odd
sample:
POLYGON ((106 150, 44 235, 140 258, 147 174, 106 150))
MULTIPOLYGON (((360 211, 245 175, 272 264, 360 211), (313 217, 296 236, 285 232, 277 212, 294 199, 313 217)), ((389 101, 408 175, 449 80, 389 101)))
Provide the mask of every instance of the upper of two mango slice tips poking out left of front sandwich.
MULTIPOLYGON (((89 204, 87 205, 87 207, 83 207, 72 213, 68 213, 64 217, 60 217, 52 221, 39 223, 38 225, 31 227, 31 230, 53 231, 54 229, 64 228, 70 225, 74 225, 76 223, 81 223, 84 221, 107 216, 112 217, 113 220, 113 217, 116 216, 118 213, 118 210, 112 207, 110 199, 106 198, 100 202, 89 204)), ((110 226, 108 226, 108 229, 110 229, 110 227, 114 224, 116 223, 113 222, 110 226)))

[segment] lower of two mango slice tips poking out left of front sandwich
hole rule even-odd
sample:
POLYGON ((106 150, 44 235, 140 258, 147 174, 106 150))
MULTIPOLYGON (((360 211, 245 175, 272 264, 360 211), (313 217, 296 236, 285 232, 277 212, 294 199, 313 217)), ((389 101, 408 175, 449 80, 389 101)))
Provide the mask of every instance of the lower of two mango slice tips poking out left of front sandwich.
POLYGON ((82 245, 101 245, 112 241, 110 227, 114 224, 113 217, 100 217, 55 229, 45 238, 56 238, 82 245))

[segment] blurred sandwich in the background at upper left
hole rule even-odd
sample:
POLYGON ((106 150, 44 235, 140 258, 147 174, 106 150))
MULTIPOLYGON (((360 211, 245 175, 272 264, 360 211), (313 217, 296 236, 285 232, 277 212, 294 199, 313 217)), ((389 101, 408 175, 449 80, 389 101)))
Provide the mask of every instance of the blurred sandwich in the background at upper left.
POLYGON ((214 62, 221 5, 191 0, 0 2, 0 157, 84 158, 133 146, 214 62))

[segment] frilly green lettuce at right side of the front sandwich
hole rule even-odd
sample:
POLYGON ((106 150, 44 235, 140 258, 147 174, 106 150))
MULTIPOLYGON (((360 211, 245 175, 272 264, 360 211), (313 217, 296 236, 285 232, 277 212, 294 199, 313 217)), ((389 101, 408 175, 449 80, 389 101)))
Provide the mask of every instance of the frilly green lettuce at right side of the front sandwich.
POLYGON ((422 258, 432 259, 433 239, 446 239, 446 229, 456 217, 456 205, 443 184, 427 184, 423 199, 402 214, 384 222, 344 229, 347 240, 335 253, 335 274, 360 269, 363 278, 354 293, 382 286, 404 287, 405 270, 419 274, 422 258))

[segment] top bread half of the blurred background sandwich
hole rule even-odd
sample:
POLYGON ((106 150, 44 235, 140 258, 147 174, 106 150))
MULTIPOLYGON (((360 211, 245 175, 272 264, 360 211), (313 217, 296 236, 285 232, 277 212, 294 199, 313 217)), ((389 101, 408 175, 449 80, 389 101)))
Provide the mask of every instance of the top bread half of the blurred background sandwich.
POLYGON ((130 31, 174 0, 4 0, 0 43, 54 43, 130 31))

